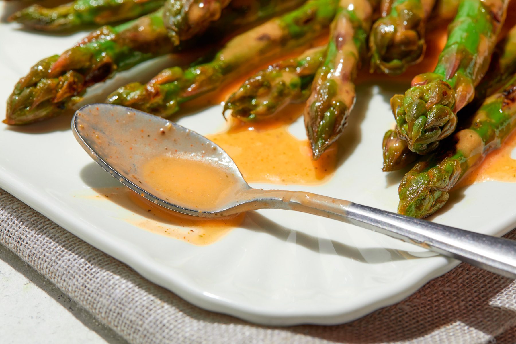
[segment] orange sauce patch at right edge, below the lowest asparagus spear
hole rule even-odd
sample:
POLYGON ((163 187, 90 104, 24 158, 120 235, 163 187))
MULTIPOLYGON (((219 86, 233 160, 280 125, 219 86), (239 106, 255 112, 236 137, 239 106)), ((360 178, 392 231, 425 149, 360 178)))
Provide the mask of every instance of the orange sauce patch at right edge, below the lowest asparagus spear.
POLYGON ((489 153, 486 158, 456 188, 487 181, 516 183, 516 160, 511 152, 516 148, 516 133, 511 134, 502 147, 489 153))

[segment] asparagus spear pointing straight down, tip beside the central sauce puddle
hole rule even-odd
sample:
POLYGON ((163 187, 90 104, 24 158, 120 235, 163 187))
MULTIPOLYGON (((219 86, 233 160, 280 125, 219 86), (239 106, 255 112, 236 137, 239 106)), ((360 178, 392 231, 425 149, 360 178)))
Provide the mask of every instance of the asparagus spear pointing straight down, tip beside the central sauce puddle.
POLYGON ((355 102, 353 80, 367 56, 367 35, 377 1, 341 0, 333 20, 325 62, 316 73, 304 108, 314 159, 335 142, 355 102))

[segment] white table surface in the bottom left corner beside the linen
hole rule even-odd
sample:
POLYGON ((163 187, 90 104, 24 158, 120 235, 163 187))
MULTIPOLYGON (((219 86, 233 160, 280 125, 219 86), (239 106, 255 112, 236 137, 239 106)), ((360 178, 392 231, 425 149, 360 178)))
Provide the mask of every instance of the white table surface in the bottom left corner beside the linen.
POLYGON ((3 245, 0 305, 4 343, 126 343, 3 245))

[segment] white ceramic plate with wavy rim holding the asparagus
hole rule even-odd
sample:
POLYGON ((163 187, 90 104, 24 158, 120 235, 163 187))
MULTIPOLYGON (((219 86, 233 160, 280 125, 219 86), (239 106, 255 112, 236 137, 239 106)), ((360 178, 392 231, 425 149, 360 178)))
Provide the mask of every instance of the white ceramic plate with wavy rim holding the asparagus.
MULTIPOLYGON (((84 35, 54 37, 16 27, 0 24, 2 109, 31 65, 84 35)), ((147 63, 140 71, 152 75, 157 64, 147 63)), ((132 78, 122 73, 106 87, 132 78)), ((361 85, 341 142, 344 162, 334 177, 320 186, 284 188, 395 211, 401 174, 381 172, 380 148, 385 129, 393 124, 389 99, 404 87, 361 85)), ((214 133, 225 126, 220 111, 216 106, 179 123, 214 133)), ((141 230, 124 220, 131 216, 128 210, 87 197, 95 194, 91 187, 118 182, 80 148, 69 120, 20 129, 2 124, 0 187, 199 307, 262 324, 342 323, 404 299, 458 264, 358 227, 285 210, 253 212, 241 228, 205 247, 141 230)), ((301 120, 291 130, 302 137, 301 120)), ((453 198, 434 221, 491 235, 516 224, 516 184, 483 183, 453 198)))

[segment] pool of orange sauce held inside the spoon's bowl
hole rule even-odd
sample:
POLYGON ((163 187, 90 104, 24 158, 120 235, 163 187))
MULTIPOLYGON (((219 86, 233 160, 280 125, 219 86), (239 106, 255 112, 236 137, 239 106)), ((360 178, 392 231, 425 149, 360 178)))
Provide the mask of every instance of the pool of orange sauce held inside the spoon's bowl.
POLYGON ((168 201, 170 196, 174 204, 211 210, 234 195, 241 182, 221 164, 201 159, 178 154, 154 157, 141 167, 142 178, 165 195, 160 198, 168 201))

